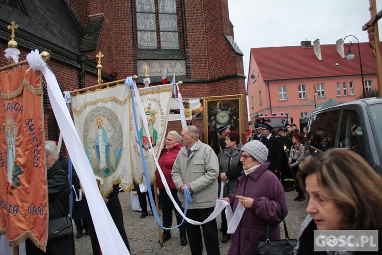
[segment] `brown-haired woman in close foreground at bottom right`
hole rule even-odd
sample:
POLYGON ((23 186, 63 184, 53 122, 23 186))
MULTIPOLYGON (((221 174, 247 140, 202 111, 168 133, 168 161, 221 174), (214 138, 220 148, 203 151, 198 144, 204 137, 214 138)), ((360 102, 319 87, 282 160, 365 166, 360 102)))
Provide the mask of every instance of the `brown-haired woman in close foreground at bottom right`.
MULTIPOLYGON (((313 254, 314 230, 381 233, 382 178, 356 152, 337 148, 309 157, 300 165, 298 180, 310 197, 306 211, 312 219, 304 224, 297 254, 313 254)), ((342 254, 357 254, 347 252, 342 254)))

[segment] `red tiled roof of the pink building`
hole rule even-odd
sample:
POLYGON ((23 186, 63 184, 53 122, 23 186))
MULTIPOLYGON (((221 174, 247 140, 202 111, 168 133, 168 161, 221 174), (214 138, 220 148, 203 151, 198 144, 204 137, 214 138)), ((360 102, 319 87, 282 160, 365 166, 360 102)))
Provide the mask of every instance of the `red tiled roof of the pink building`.
MULTIPOLYGON (((348 48, 344 46, 345 56, 348 48)), ((375 74, 375 58, 369 44, 360 43, 364 74, 375 74)), ((321 45, 322 60, 314 48, 301 46, 252 48, 251 55, 264 81, 327 78, 361 74, 357 44, 351 46, 354 59, 348 61, 337 53, 336 44, 321 45), (339 65, 337 66, 336 63, 339 65)))

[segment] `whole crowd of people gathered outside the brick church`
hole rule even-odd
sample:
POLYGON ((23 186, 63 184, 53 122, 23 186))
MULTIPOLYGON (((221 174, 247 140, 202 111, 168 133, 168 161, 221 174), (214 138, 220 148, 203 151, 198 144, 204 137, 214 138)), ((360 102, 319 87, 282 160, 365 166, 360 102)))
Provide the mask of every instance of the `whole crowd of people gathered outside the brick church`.
MULTIPOLYGON (((228 254, 253 253, 260 240, 266 238, 268 229, 270 239, 281 238, 279 224, 288 214, 285 191, 290 189, 297 191, 296 201, 306 200, 306 194, 309 197, 308 216, 295 247, 296 254, 313 252, 314 230, 382 231, 380 213, 375 210, 382 207, 382 179, 362 156, 350 149, 338 148, 312 157, 305 151, 304 137, 309 143, 321 144, 325 140, 321 129, 312 135, 307 134, 306 130, 300 133, 295 125, 287 124, 276 131, 278 136, 273 135, 275 131, 270 122, 256 124, 252 139, 243 145, 238 132, 224 130, 225 146, 217 155, 199 139, 196 126, 184 127, 181 134, 170 131, 158 163, 181 210, 185 207, 185 190, 192 196, 186 217, 203 222, 214 211, 216 200, 221 199, 227 201, 233 213, 237 211, 240 218, 236 230, 229 234, 229 222, 225 212, 222 212, 222 240, 218 238, 216 219, 201 225, 182 220, 157 171, 162 241, 171 239, 174 211, 180 245, 186 246, 188 243, 192 254, 203 253, 203 241, 207 254, 220 254, 220 241, 225 243, 229 240, 228 254)), ((71 190, 67 162, 64 158, 59 160, 54 142, 46 141, 45 151, 49 219, 67 217, 71 190)), ((75 174, 72 179, 75 188, 78 187, 75 174)), ((118 185, 115 185, 104 201, 130 251, 118 192, 118 185)), ((93 253, 100 254, 89 209, 84 206, 82 210, 85 214, 75 217, 76 238, 80 238, 85 230, 91 236, 93 253)), ((146 215, 147 211, 143 212, 143 216, 146 215)), ((73 234, 65 239, 48 240, 46 250, 46 254, 74 254, 73 234)), ((26 241, 26 251, 28 254, 40 254, 30 240, 26 241)))

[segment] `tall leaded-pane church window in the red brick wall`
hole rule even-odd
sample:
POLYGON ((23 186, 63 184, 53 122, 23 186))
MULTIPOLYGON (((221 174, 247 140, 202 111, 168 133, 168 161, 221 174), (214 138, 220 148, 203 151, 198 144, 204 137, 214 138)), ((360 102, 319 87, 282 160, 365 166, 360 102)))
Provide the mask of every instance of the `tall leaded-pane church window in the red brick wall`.
POLYGON ((138 48, 179 49, 176 1, 136 0, 136 4, 138 48))

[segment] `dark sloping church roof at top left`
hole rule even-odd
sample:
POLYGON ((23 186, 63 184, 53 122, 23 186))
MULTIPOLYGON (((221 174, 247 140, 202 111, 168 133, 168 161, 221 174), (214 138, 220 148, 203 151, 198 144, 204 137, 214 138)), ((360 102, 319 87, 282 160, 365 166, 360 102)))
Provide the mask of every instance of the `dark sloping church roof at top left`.
MULTIPOLYGON (((16 38, 38 43, 49 42, 71 53, 81 54, 79 46, 84 31, 72 10, 63 0, 23 1, 26 14, 9 4, 0 4, 0 23, 10 24, 12 20, 19 25, 15 31, 16 38)), ((7 30, 7 29, 5 29, 7 30)), ((10 34, 10 31, 9 31, 10 34)))

